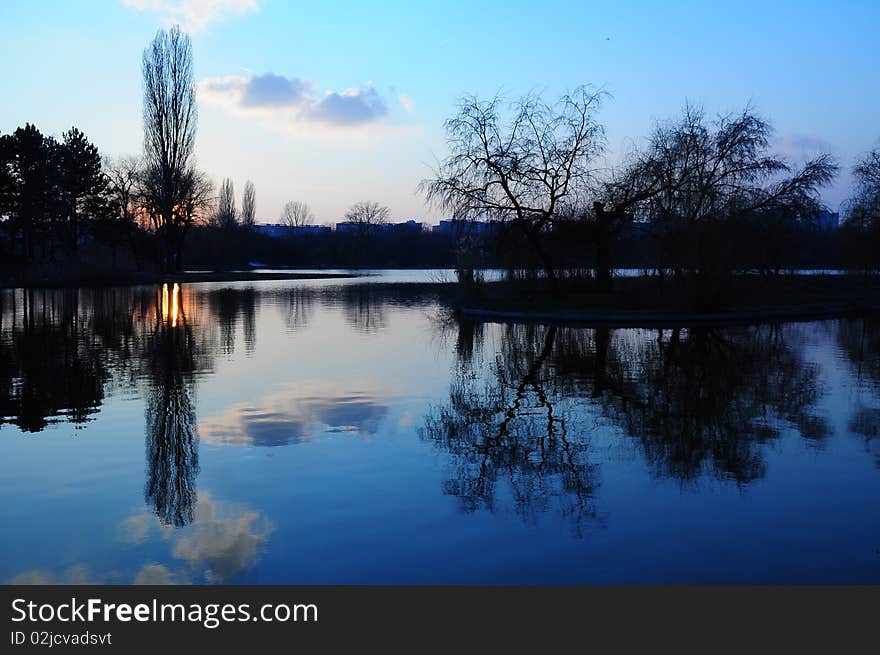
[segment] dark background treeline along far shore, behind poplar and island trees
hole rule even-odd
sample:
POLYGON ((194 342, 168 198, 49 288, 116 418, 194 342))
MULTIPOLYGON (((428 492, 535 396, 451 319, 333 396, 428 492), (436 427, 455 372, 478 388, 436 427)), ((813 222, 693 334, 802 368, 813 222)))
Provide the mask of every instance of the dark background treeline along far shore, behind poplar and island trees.
MULTIPOLYGON (((139 208, 141 160, 102 160, 76 128, 55 139, 26 125, 0 135, 0 162, 0 273, 12 276, 30 270, 75 278, 89 271, 109 275, 161 270, 156 232, 139 208)), ((259 262, 294 267, 540 271, 529 238, 514 222, 499 222, 497 229, 480 236, 463 223, 458 233, 364 230, 271 237, 253 229, 253 185, 246 185, 247 211, 240 214, 232 193, 231 181, 225 180, 218 198, 203 198, 199 220, 187 227, 183 241, 187 254, 180 266, 234 268, 259 262)), ((810 220, 781 211, 741 216, 726 226, 725 256, 741 270, 765 273, 812 267, 873 270, 880 266, 873 261, 878 251, 873 246, 880 244, 870 240, 876 230, 870 203, 853 202, 848 211, 858 216, 858 222, 846 220, 839 230, 821 230, 810 220)), ((595 274, 599 261, 590 216, 554 219, 541 229, 538 240, 557 275, 595 274)), ((616 268, 666 270, 669 251, 676 249, 663 241, 660 226, 627 214, 615 227, 610 263, 616 268)), ((682 257, 690 251, 685 243, 680 235, 677 249, 682 257)), ((683 258, 678 265, 685 263, 683 258)))

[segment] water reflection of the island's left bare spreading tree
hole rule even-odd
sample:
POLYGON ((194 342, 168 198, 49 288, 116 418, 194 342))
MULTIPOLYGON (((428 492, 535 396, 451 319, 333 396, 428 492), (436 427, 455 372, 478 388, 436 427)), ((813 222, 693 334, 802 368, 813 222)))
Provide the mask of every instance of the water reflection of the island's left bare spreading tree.
POLYGON ((444 491, 466 511, 494 510, 504 485, 524 519, 555 506, 579 530, 596 517, 596 482, 586 425, 553 387, 549 359, 557 329, 508 328, 487 376, 479 373, 482 358, 474 357, 481 334, 473 324, 460 325, 449 402, 433 408, 421 429, 451 455, 444 491))

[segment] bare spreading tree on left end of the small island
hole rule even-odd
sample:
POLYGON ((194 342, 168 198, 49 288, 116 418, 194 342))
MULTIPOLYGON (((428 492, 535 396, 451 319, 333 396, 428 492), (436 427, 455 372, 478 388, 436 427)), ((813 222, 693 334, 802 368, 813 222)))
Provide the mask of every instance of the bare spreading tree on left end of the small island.
POLYGON ((445 123, 450 154, 420 188, 455 218, 513 224, 555 290, 542 232, 572 211, 593 179, 591 165, 605 145, 595 117, 604 95, 582 86, 553 105, 528 95, 509 110, 499 97, 465 97, 445 123))

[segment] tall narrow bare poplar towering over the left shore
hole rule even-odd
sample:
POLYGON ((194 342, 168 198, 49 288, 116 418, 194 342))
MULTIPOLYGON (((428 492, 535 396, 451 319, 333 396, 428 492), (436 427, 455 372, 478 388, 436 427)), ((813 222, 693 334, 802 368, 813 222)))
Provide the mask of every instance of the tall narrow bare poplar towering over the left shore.
POLYGON ((143 56, 144 160, 141 202, 159 242, 160 264, 180 269, 199 175, 193 168, 197 108, 192 42, 178 26, 160 30, 143 56))

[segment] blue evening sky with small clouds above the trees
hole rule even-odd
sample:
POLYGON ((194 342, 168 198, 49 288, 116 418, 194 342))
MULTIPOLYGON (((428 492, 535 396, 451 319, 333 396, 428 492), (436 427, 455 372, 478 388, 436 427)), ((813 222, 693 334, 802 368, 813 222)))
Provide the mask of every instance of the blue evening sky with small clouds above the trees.
POLYGON ((106 154, 139 151, 141 53, 172 22, 193 37, 199 166, 239 193, 252 179, 261 222, 287 200, 332 222, 364 199, 437 220, 415 187, 463 93, 604 87, 610 161, 685 100, 751 103, 795 161, 849 167, 880 139, 880 3, 857 0, 4 1, 0 131, 76 125, 106 154))

